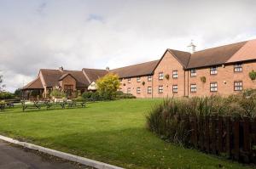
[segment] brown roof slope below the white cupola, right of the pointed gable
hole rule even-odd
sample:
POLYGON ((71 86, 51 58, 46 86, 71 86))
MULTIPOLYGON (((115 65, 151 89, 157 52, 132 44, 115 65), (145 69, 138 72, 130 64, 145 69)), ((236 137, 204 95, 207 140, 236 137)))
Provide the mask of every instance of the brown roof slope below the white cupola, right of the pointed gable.
MULTIPOLYGON (((216 48, 208 48, 195 52, 190 56, 187 69, 206 67, 211 65, 225 64, 234 54, 236 54, 246 42, 237 42, 216 48)), ((254 47, 255 48, 255 47, 254 47)), ((256 59, 256 58, 255 58, 256 59)))

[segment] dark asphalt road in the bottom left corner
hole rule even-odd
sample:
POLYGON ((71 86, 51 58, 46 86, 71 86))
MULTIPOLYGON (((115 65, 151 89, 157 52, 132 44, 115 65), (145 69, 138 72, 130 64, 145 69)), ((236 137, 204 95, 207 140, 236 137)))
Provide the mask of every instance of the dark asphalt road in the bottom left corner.
POLYGON ((0 169, 91 169, 0 140, 0 169))

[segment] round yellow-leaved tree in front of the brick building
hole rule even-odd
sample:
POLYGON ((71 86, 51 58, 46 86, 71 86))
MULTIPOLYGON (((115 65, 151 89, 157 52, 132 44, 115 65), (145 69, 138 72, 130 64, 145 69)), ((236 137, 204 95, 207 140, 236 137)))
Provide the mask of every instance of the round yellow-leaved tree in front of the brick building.
POLYGON ((119 76, 113 73, 108 73, 96 82, 97 90, 104 99, 114 99, 119 86, 119 76))

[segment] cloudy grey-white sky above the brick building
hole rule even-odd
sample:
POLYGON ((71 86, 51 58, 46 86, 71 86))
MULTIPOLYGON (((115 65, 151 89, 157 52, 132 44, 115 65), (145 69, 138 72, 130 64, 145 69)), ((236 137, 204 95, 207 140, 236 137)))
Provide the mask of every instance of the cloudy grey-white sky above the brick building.
POLYGON ((255 0, 0 0, 0 70, 9 91, 40 68, 110 69, 256 38, 255 0))

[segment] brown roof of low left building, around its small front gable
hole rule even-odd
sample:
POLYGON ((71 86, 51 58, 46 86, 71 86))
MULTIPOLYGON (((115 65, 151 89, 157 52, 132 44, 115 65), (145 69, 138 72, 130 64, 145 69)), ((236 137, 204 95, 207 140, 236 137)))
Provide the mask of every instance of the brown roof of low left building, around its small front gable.
POLYGON ((77 87, 88 87, 90 83, 85 78, 82 71, 78 70, 48 70, 41 69, 40 70, 43 77, 44 82, 47 87, 55 87, 59 85, 59 80, 64 76, 71 75, 77 81, 77 87))

